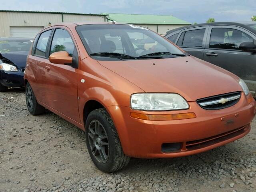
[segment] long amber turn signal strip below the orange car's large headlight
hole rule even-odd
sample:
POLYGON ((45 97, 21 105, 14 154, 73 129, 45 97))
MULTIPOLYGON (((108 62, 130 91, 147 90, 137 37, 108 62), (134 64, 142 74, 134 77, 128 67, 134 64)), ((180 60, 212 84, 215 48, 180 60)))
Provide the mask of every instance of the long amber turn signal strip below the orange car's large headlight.
POLYGON ((179 114, 164 114, 164 115, 150 115, 131 112, 131 117, 136 119, 151 120, 151 121, 166 121, 166 120, 179 120, 196 118, 196 114, 192 113, 179 113, 179 114))

